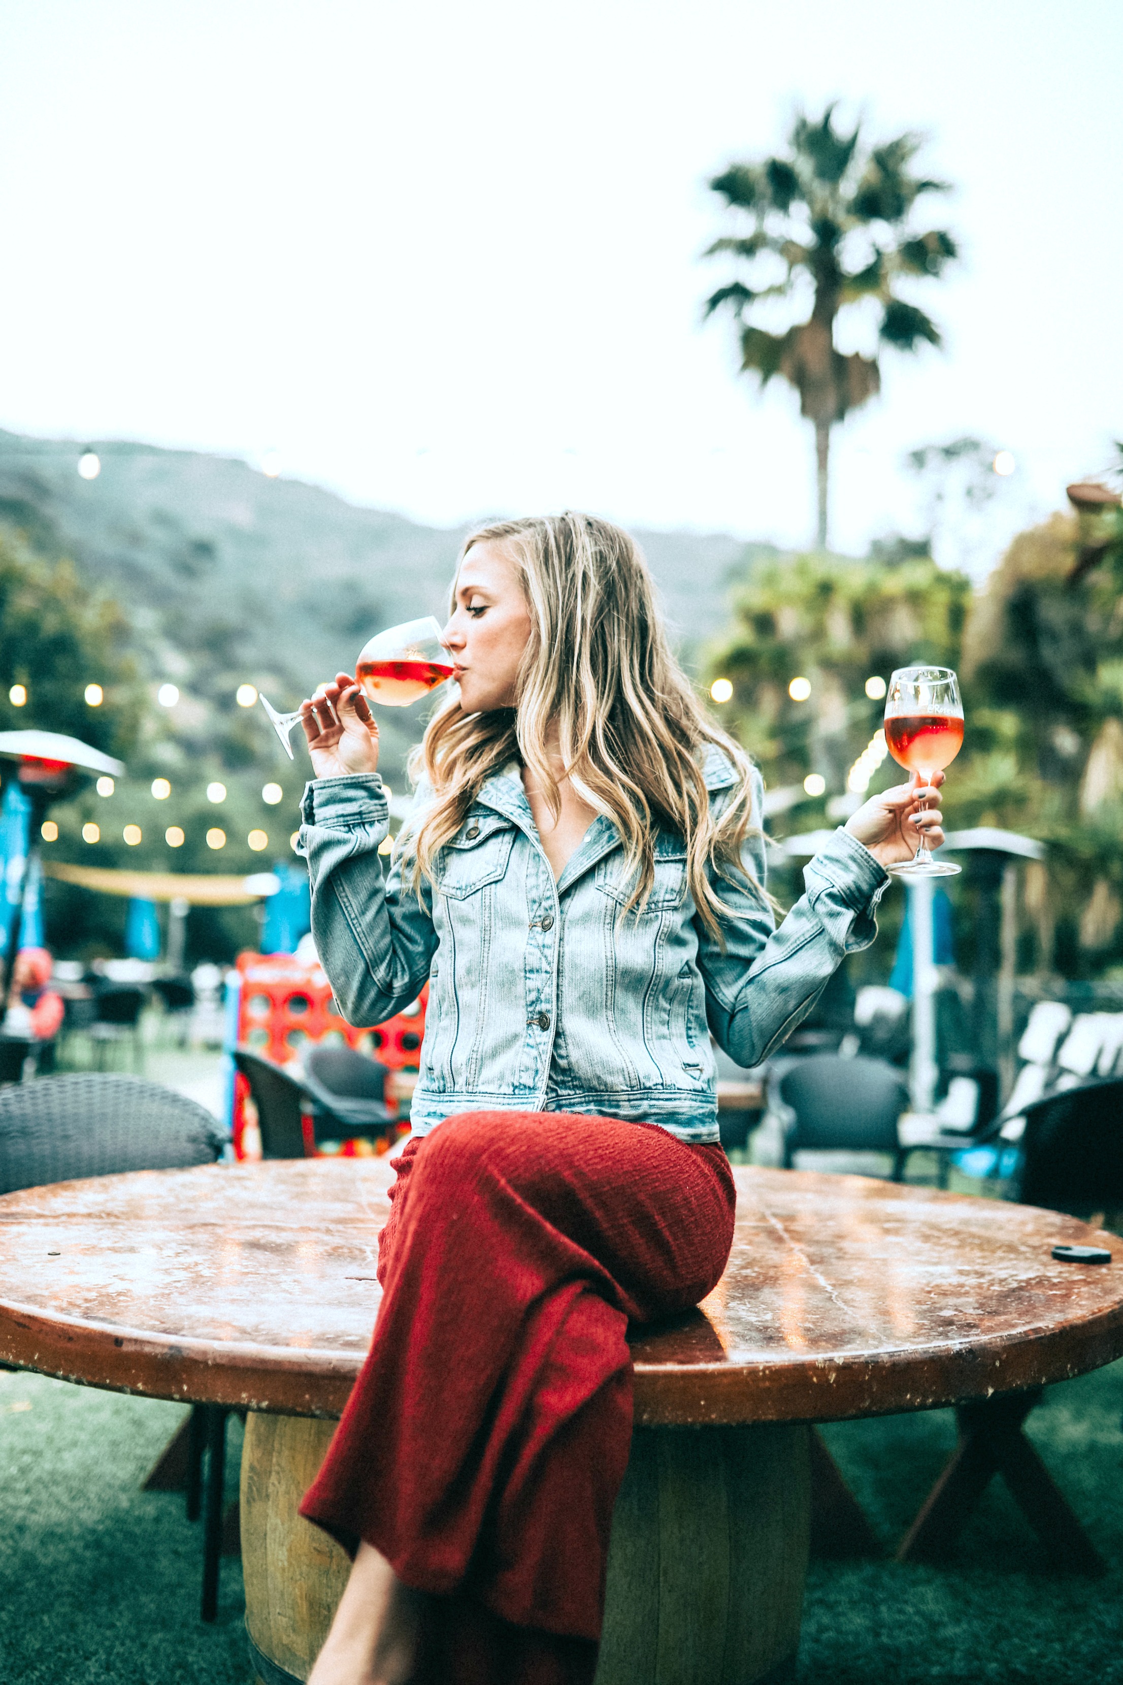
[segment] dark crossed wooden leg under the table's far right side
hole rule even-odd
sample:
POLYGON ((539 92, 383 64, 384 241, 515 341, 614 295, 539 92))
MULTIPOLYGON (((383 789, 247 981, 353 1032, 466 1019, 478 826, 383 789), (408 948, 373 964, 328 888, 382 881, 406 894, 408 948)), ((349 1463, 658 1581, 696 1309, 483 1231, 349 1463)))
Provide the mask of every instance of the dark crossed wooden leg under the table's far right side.
POLYGON ((960 1442, 897 1550, 897 1562, 946 1562, 995 1474, 1071 1574, 1103 1574, 1106 1564, 1067 1498, 1022 1431, 1042 1388, 995 1393, 956 1409, 960 1442))

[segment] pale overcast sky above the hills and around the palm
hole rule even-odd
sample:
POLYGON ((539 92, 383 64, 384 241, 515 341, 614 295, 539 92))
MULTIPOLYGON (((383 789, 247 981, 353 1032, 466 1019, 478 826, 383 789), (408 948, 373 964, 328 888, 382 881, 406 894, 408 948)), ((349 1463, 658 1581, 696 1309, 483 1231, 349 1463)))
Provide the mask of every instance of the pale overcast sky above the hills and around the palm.
POLYGON ((1012 529, 1123 436, 1121 84, 1118 0, 3 0, 0 426, 803 543, 798 399, 702 325, 705 182, 840 98, 929 136, 963 263, 835 433, 833 541, 914 531, 902 455, 963 433, 1012 529))

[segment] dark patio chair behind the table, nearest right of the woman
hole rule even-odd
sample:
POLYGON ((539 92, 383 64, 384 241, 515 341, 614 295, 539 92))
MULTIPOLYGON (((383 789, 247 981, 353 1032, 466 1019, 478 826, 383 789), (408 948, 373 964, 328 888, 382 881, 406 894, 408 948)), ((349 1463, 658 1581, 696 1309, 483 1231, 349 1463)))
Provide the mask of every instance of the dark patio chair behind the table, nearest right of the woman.
POLYGON ((840 1058, 815 1053, 795 1060, 776 1077, 785 1117, 785 1169, 796 1153, 889 1153, 892 1180, 901 1181, 906 1149, 897 1119, 907 1105, 899 1070, 879 1058, 840 1058))

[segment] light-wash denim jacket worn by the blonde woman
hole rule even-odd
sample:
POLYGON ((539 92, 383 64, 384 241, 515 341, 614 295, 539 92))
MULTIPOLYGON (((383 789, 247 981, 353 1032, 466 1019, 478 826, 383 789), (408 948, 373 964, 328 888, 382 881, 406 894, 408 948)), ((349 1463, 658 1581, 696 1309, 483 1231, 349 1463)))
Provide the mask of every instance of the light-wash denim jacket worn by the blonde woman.
MULTIPOLYGON (((711 750, 712 810, 736 780, 711 750)), ((753 784, 759 817, 759 773, 753 784)), ((414 812, 428 799, 419 789, 414 812)), ((837 831, 774 928, 756 888, 764 883, 756 831, 742 856, 754 883, 716 881, 727 907, 722 945, 697 917, 684 842, 672 832, 657 832, 655 885, 623 918, 630 885, 608 819, 589 826, 554 881, 514 765, 483 784, 419 895, 402 869, 407 844, 379 856, 389 812, 377 773, 313 780, 301 812, 311 930, 343 1018, 377 1024, 429 982, 414 1134, 453 1112, 567 1110, 717 1141, 711 1033, 739 1065, 759 1065, 810 1013, 842 957, 874 940, 889 883, 874 856, 837 831)))

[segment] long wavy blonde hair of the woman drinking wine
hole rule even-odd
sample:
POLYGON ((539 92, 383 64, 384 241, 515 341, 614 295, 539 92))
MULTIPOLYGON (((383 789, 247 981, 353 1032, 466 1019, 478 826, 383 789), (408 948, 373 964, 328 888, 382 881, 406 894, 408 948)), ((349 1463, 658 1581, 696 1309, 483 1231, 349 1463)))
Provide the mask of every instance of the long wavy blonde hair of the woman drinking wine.
POLYGON ((707 719, 675 661, 636 544, 608 521, 572 511, 480 527, 465 539, 458 573, 473 544, 495 544, 515 564, 532 630, 515 706, 465 714, 453 698, 414 750, 411 777, 424 775, 434 795, 409 836, 414 883, 423 873, 433 880, 438 851, 460 831, 483 780, 512 760, 530 770, 557 817, 561 797, 547 753, 556 730, 571 787, 623 839, 625 878, 635 878, 625 912, 641 907, 652 890, 655 829, 665 827, 685 842, 690 895, 719 937, 724 908, 707 868, 744 873, 751 762, 707 719), (702 775, 709 745, 737 773, 719 817, 702 775))

